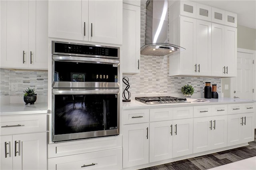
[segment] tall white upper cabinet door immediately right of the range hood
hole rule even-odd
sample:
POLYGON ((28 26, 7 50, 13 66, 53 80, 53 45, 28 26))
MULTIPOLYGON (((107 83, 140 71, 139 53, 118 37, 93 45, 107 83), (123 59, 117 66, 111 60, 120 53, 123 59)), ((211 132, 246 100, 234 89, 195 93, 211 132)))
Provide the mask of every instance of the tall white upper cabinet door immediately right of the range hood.
POLYGON ((180 74, 196 74, 196 19, 180 16, 180 74))

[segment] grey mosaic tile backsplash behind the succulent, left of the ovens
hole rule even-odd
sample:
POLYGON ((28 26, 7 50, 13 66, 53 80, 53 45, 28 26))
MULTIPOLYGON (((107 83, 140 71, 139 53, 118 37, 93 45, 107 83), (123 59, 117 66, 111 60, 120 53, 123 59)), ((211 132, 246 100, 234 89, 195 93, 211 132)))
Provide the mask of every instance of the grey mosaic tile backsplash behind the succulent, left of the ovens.
POLYGON ((47 71, 13 71, 0 69, 0 95, 23 96, 27 87, 35 88, 37 95, 48 95, 47 71), (18 91, 11 91, 11 83, 18 83, 18 91))

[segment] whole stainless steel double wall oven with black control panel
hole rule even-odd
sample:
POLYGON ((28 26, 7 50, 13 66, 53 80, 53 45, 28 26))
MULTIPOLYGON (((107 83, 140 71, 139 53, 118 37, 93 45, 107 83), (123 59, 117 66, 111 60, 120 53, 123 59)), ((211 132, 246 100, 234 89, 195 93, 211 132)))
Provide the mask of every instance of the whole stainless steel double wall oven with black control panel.
POLYGON ((52 41, 52 141, 119 134, 119 53, 52 41))

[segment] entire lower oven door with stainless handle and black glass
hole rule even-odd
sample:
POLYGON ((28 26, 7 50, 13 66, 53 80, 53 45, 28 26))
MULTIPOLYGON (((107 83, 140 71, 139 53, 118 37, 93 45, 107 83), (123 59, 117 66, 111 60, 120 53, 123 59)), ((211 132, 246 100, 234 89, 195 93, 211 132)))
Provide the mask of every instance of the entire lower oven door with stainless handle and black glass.
POLYGON ((52 141, 119 134, 119 89, 52 89, 52 141))

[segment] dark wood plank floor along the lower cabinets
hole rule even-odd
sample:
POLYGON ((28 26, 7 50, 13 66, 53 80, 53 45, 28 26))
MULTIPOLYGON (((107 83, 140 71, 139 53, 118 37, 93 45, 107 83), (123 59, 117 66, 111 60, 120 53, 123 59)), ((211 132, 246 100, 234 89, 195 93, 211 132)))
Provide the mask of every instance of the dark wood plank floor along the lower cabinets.
POLYGON ((141 170, 206 170, 253 156, 256 156, 256 130, 254 141, 249 142, 248 146, 152 166, 141 170))

